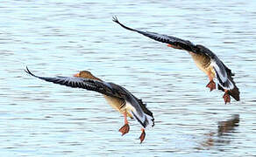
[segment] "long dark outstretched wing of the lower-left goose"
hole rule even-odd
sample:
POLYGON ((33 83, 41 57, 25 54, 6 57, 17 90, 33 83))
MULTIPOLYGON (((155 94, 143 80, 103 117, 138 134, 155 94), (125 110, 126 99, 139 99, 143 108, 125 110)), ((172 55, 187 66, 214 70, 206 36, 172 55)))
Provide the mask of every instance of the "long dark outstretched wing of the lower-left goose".
POLYGON ((73 88, 82 88, 89 91, 100 92, 111 97, 124 98, 123 92, 117 92, 117 90, 113 89, 110 83, 107 83, 107 82, 97 81, 97 80, 88 79, 88 78, 76 78, 76 77, 61 77, 61 76, 39 77, 34 75, 32 72, 30 72, 27 67, 25 72, 27 72, 28 74, 32 75, 35 78, 40 78, 48 82, 53 82, 54 84, 66 85, 73 88))

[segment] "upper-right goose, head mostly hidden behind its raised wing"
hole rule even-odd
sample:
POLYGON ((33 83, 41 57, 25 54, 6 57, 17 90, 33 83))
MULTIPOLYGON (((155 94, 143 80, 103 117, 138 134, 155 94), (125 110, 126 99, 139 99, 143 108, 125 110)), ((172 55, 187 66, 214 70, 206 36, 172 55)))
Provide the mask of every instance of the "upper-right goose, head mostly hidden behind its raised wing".
POLYGON ((240 99, 240 92, 232 78, 234 74, 226 65, 224 65, 224 63, 219 58, 217 58, 217 55, 215 55, 212 51, 203 45, 193 44, 188 40, 158 34, 155 32, 132 29, 125 26, 124 24, 121 24, 117 17, 113 17, 113 21, 121 25, 126 30, 135 31, 148 38, 152 38, 153 40, 166 43, 169 47, 174 49, 188 51, 188 53, 195 61, 196 66, 208 76, 210 82, 208 85, 206 85, 206 87, 209 87, 210 91, 216 89, 216 83, 213 79, 217 78, 217 89, 224 92, 223 98, 225 104, 231 102, 231 97, 237 101, 240 99))

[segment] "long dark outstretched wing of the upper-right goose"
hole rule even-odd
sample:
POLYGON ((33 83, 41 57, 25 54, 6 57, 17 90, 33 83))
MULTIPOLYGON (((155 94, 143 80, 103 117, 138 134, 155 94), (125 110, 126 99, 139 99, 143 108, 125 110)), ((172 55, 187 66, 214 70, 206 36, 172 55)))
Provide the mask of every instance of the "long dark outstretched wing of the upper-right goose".
POLYGON ((186 51, 193 51, 194 48, 194 44, 192 44, 190 41, 188 40, 182 40, 181 38, 175 38, 172 36, 167 36, 164 34, 159 34, 159 33, 155 33, 155 32, 150 32, 150 31, 139 31, 139 30, 135 30, 132 29, 130 27, 125 26, 124 24, 121 24, 117 17, 113 17, 113 21, 119 25, 121 25, 124 29, 129 30, 129 31, 136 31, 139 34, 142 34, 148 38, 152 38, 153 40, 162 42, 162 43, 167 43, 167 44, 171 44, 173 48, 175 49, 181 49, 181 50, 186 50, 186 51))

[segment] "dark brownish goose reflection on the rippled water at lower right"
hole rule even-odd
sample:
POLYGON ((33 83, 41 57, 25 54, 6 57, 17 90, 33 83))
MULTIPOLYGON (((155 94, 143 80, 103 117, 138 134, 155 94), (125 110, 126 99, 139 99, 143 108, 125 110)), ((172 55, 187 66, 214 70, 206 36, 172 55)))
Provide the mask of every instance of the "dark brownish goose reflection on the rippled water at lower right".
MULTIPOLYGON (((234 130, 239 126, 239 114, 234 114, 231 119, 219 121, 217 125, 217 132, 210 132, 204 134, 206 140, 201 145, 203 147, 223 146, 230 144, 234 130)), ((202 149, 198 148, 197 149, 202 149)))

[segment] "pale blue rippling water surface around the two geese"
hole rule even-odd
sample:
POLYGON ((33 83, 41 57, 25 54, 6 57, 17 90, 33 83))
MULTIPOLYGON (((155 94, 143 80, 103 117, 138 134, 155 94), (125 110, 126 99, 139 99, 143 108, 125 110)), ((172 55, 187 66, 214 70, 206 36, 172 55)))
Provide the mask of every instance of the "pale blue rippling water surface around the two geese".
POLYGON ((0 5, 1 156, 256 155, 256 3, 223 1, 5 1, 0 5), (114 24, 204 44, 236 73, 241 101, 224 105, 186 51, 114 24), (124 85, 153 112, 121 136, 123 117, 96 92, 32 78, 89 70, 124 85), (239 123, 218 133, 220 121, 239 123))

